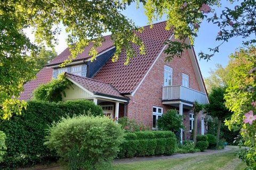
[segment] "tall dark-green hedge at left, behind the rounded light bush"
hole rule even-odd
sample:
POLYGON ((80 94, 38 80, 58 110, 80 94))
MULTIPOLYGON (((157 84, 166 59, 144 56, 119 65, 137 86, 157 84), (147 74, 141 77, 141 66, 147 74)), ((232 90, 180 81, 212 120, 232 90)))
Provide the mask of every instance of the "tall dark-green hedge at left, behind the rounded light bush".
POLYGON ((46 129, 61 117, 87 114, 103 115, 100 106, 89 100, 48 103, 29 101, 27 110, 20 116, 13 116, 4 121, 0 130, 6 135, 7 153, 4 155, 0 169, 22 167, 41 162, 44 159, 55 159, 56 154, 46 146, 46 129))

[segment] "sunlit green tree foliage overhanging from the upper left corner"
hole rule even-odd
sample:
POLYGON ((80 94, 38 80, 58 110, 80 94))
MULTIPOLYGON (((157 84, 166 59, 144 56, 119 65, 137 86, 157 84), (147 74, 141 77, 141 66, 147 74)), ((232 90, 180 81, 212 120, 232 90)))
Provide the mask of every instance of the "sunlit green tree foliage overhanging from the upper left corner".
MULTIPOLYGON (((14 113, 21 113, 25 106, 18 100, 23 84, 35 78, 34 58, 37 45, 57 44, 57 35, 61 25, 68 33, 67 43, 71 50, 70 60, 92 42, 89 55, 92 60, 97 56, 97 47, 103 42, 103 33, 111 32, 118 59, 122 49, 126 52, 125 64, 135 55, 132 46, 140 46, 140 53, 145 49, 134 31, 141 31, 127 19, 121 11, 126 5, 120 1, 1 1, 0 2, 0 107, 4 118, 14 113), (23 32, 32 28, 35 33, 33 44, 23 32), (28 57, 27 53, 31 55, 28 57)), ((66 61, 62 64, 70 62, 66 61)))

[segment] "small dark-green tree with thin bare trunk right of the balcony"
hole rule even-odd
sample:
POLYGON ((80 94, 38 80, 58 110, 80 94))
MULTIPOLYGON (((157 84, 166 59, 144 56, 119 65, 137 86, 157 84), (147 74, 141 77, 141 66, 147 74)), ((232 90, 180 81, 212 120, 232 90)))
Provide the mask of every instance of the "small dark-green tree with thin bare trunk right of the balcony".
POLYGON ((232 113, 225 106, 224 95, 226 93, 226 87, 214 87, 211 89, 209 94, 210 104, 205 106, 207 114, 218 118, 218 129, 217 129, 217 147, 220 138, 220 128, 225 118, 229 117, 232 113))

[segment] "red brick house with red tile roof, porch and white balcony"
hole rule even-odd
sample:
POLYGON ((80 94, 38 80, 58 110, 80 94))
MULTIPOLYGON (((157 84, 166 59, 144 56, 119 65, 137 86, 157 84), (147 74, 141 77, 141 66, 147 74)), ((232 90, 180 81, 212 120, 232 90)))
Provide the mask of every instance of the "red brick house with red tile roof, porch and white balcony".
MULTIPOLYGON (((189 139, 193 129, 194 114, 191 111, 193 101, 208 103, 201 71, 194 49, 188 49, 181 58, 165 62, 164 42, 172 38, 172 31, 165 30, 165 22, 154 24, 153 29, 144 27, 138 36, 146 47, 146 55, 139 54, 139 47, 134 47, 137 56, 129 65, 124 65, 123 51, 116 63, 111 62, 115 47, 110 36, 105 36, 105 43, 99 47, 97 60, 90 62, 87 46, 83 53, 66 67, 59 64, 68 59, 69 49, 65 49, 54 60, 38 72, 37 78, 24 85, 20 99, 33 98, 33 90, 39 84, 47 83, 66 72, 66 78, 73 82, 65 90, 63 100, 88 99, 100 105, 110 117, 134 118, 146 126, 157 129, 157 119, 167 109, 177 109, 183 115, 182 139, 189 139)), ((187 42, 189 43, 189 41, 187 42)), ((198 134, 204 134, 204 116, 198 116, 198 134)))

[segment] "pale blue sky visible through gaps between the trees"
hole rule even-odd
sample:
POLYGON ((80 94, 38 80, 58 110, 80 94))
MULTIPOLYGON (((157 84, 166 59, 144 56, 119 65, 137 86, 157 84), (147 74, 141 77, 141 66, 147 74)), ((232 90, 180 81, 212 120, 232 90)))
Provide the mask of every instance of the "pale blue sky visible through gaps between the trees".
MULTIPOLYGON (((221 13, 221 11, 225 6, 229 8, 234 8, 234 6, 236 5, 236 4, 230 5, 229 2, 227 1, 221 1, 221 3, 222 3, 222 7, 220 8, 214 7, 215 12, 217 13, 217 16, 218 14, 221 13)), ((133 20, 137 26, 142 27, 148 24, 147 16, 144 14, 143 8, 140 7, 139 9, 137 9, 135 3, 127 7, 127 9, 122 13, 125 16, 127 16, 127 18, 133 20)), ((213 14, 212 13, 209 14, 209 16, 211 15, 213 14)), ((154 23, 165 21, 165 20, 166 18, 163 17, 162 20, 155 21, 154 23)), ((25 30, 25 32, 27 33, 28 37, 31 40, 34 40, 34 37, 31 34, 31 30, 25 30)), ((196 55, 198 55, 198 53, 201 51, 207 53, 208 48, 210 47, 213 48, 220 44, 220 42, 215 41, 215 38, 218 32, 219 32, 219 28, 217 27, 217 25, 213 25, 212 23, 208 23, 207 21, 202 22, 198 31, 198 37, 195 38, 195 42, 194 42, 194 49, 195 49, 196 55)), ((67 33, 65 31, 62 31, 61 34, 58 36, 59 44, 55 47, 55 50, 57 51, 58 54, 60 54, 65 48, 67 48, 66 38, 67 38, 67 33)), ((199 57, 197 57, 203 77, 204 78, 209 77, 210 69, 214 70, 216 64, 222 64, 222 66, 226 66, 229 60, 228 56, 231 53, 234 53, 235 50, 239 46, 241 46, 241 44, 242 44, 241 38, 233 38, 233 39, 230 39, 228 43, 225 43, 222 46, 220 46, 219 48, 220 52, 215 54, 211 58, 211 60, 209 61, 206 61, 203 59, 199 60, 199 57)))

